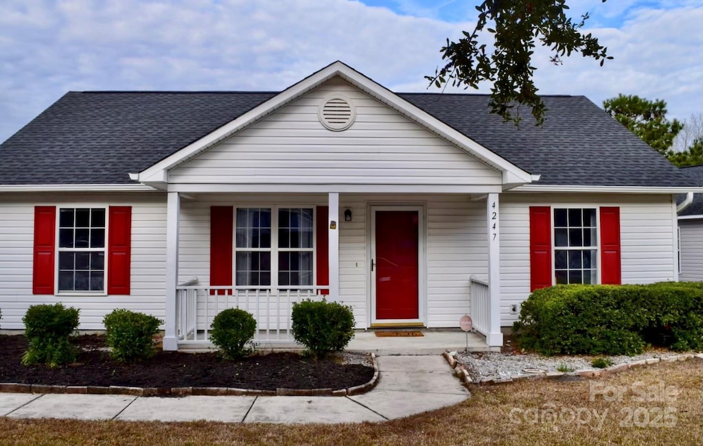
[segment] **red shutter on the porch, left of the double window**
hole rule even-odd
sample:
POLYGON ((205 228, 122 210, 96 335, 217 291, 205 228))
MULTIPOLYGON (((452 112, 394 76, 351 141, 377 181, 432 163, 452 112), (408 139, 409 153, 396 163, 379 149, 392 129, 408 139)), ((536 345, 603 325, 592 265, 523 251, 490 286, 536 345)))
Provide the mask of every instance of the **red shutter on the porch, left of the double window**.
MULTIPOLYGON (((234 211, 232 206, 210 207, 210 285, 232 285, 234 211)), ((211 294, 214 294, 212 292, 211 294)), ((218 294, 226 294, 224 291, 218 294)))

